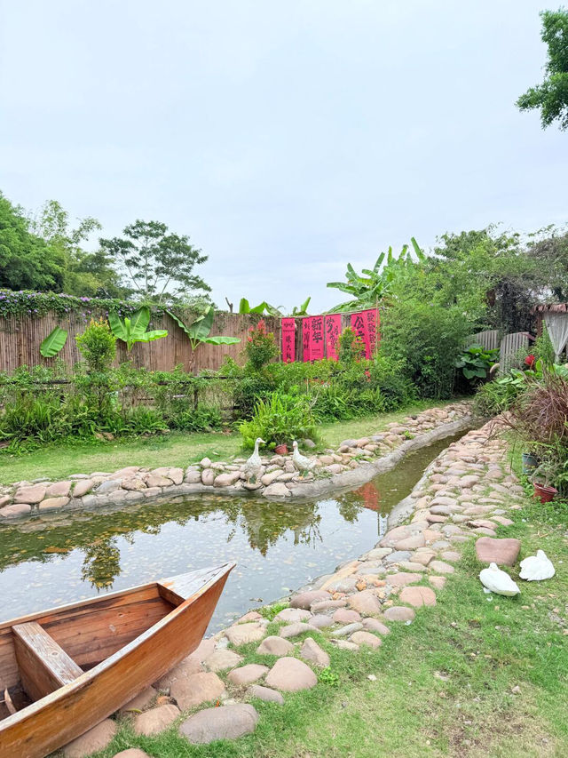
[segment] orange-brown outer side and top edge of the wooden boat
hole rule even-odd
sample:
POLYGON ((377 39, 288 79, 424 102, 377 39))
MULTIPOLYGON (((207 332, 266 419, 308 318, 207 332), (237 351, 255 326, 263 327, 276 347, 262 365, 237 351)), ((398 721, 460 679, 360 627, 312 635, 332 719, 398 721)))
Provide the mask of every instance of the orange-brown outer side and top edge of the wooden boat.
POLYGON ((201 642, 232 568, 211 570, 209 581, 187 597, 177 594, 175 579, 160 585, 177 606, 73 682, 0 722, 0 755, 43 758, 170 671, 201 642))

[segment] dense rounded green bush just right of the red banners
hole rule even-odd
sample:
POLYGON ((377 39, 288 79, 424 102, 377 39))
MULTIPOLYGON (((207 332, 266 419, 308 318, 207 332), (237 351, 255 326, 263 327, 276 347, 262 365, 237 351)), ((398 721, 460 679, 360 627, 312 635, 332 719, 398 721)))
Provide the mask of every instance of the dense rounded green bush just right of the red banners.
POLYGON ((401 301, 384 316, 381 348, 385 357, 405 363, 420 397, 450 397, 455 363, 469 332, 459 307, 401 301))

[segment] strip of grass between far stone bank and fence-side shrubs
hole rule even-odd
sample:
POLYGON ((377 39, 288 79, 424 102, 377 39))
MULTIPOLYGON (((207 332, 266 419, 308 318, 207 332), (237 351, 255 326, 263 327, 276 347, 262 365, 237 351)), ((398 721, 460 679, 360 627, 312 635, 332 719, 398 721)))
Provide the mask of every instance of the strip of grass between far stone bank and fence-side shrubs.
MULTIPOLYGON (((336 447, 349 437, 360 437, 385 427, 390 421, 414 415, 434 405, 420 403, 396 413, 366 416, 351 421, 338 421, 319 427, 324 442, 336 447)), ((115 471, 124 466, 188 466, 208 457, 229 460, 247 455, 241 449, 241 435, 236 432, 185 434, 138 437, 113 442, 76 442, 48 445, 20 455, 0 454, 0 483, 46 478, 63 479, 70 474, 89 474, 91 471, 115 471)))

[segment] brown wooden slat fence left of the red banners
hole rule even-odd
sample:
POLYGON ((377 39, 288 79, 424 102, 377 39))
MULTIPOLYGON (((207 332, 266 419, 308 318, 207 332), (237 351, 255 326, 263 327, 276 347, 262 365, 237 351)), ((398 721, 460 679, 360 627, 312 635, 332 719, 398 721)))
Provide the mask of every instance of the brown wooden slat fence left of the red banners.
MULTIPOLYGON (((188 314, 186 323, 191 323, 194 317, 188 314)), ((224 362, 225 355, 230 355, 238 363, 243 363, 241 354, 248 329, 256 324, 259 318, 258 315, 217 313, 211 334, 239 337, 241 342, 237 345, 201 345, 195 351, 195 371, 205 369, 217 371, 224 362)), ((264 322, 268 331, 274 332, 274 337, 280 346, 280 318, 264 316, 264 322)), ((50 313, 39 318, 0 318, 0 371, 12 373, 22 365, 53 365, 57 359, 43 358, 39 347, 43 339, 58 325, 68 331, 67 342, 58 357, 69 368, 72 368, 81 358, 75 337, 84 331, 85 319, 78 313, 69 313, 65 317, 50 313)), ((116 343, 116 363, 122 363, 130 358, 135 366, 144 366, 151 371, 171 371, 178 364, 188 371, 192 349, 185 331, 167 314, 160 317, 154 316, 149 328, 167 329, 168 336, 146 344, 138 343, 130 353, 127 353, 126 345, 119 340, 116 343)))

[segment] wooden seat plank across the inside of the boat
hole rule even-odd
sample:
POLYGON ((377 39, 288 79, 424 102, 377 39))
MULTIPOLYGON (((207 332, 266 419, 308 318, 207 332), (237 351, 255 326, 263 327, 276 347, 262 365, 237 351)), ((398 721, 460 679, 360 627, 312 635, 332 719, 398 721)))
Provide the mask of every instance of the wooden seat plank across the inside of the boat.
POLYGON ((83 674, 73 658, 36 621, 12 626, 21 682, 38 700, 83 674))

